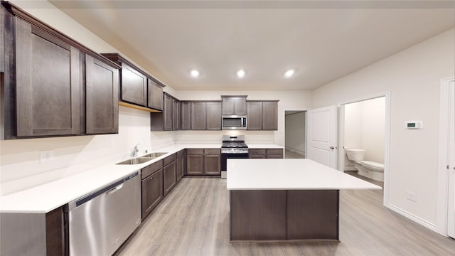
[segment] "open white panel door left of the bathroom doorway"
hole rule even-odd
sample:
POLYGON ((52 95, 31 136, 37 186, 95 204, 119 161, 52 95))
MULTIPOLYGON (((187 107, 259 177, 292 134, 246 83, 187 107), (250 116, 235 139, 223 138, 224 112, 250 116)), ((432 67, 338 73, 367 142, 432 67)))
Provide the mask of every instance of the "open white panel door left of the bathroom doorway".
POLYGON ((337 127, 336 106, 306 112, 308 158, 336 169, 337 127))

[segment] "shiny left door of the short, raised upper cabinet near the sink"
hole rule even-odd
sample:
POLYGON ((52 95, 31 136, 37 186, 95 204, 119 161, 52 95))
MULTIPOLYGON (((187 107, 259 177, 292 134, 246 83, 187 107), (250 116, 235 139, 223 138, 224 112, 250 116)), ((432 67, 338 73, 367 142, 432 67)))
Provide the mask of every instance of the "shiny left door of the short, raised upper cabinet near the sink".
POLYGON ((122 63, 122 100, 147 106, 147 78, 138 70, 122 63))

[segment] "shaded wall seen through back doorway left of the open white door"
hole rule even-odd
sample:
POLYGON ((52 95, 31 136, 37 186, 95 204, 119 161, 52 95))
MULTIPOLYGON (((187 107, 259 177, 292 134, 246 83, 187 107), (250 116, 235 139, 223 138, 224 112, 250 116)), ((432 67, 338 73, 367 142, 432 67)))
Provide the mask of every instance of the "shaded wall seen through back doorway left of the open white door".
POLYGON ((286 149, 305 156, 305 112, 287 114, 285 124, 286 149))

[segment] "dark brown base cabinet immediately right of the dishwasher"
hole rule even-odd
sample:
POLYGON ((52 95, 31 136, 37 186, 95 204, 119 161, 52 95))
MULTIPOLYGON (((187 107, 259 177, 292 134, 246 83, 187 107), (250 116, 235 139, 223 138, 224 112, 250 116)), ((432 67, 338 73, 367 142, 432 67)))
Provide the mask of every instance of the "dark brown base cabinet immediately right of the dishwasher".
POLYGON ((141 169, 142 220, 163 199, 163 161, 141 169))

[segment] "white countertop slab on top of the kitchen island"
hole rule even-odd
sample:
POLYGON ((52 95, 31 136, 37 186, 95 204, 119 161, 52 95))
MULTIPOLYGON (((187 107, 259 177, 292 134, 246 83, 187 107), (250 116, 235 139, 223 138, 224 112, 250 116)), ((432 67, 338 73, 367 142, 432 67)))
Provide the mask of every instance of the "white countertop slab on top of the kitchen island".
POLYGON ((228 159, 228 190, 382 189, 310 159, 228 159))

